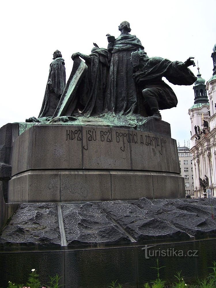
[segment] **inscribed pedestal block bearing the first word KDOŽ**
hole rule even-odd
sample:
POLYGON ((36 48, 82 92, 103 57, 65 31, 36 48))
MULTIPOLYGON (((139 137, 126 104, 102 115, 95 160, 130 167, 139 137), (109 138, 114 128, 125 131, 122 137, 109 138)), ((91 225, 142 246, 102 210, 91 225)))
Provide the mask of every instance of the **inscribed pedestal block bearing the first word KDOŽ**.
MULTIPOLYGON (((33 126, 32 169, 82 169, 82 133, 75 126, 33 126)), ((29 129, 29 130, 30 130, 29 129)))

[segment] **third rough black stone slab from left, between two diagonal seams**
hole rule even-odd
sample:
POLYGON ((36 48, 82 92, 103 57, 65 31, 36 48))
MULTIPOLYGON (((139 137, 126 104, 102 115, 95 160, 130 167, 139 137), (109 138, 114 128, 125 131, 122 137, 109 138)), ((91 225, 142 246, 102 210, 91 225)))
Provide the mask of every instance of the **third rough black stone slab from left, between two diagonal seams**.
POLYGON ((185 232, 136 205, 113 201, 103 202, 101 208, 136 241, 188 237, 185 232))

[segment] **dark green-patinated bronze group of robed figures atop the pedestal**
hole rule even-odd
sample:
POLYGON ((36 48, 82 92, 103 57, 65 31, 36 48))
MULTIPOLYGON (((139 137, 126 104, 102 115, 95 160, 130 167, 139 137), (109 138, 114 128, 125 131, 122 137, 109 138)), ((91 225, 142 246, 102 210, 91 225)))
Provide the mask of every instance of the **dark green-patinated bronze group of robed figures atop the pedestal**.
MULTIPOLYGON (((195 66, 193 57, 184 63, 148 57, 141 41, 130 34, 127 21, 118 28, 121 32, 118 38, 107 35, 107 49, 94 43, 90 55, 77 52, 71 56, 74 61, 77 57, 85 60, 87 71, 76 87, 73 111, 68 109, 70 115, 64 116, 100 117, 112 113, 160 120, 159 110, 176 107, 178 102, 174 91, 162 77, 176 85, 192 85, 196 81, 188 69, 190 65, 195 66)), ((58 50, 53 56, 39 118, 54 115, 65 88, 64 59, 58 50)))

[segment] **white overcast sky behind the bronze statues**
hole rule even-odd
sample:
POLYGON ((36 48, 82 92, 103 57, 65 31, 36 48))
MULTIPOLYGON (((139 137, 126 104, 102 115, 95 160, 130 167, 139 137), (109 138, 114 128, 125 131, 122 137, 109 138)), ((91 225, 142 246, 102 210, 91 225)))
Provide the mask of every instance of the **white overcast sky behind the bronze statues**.
MULTIPOLYGON (((216 43, 215 11, 216 0, 2 1, 0 127, 38 116, 56 49, 65 59, 67 80, 72 53, 90 54, 93 42, 107 48, 106 34, 118 37, 124 20, 148 56, 182 62, 194 56, 207 81, 216 43)), ((197 74, 197 66, 191 70, 197 74)), ((162 120, 170 123, 172 138, 182 146, 191 137, 188 109, 194 91, 193 86, 170 86, 179 103, 163 110, 162 120)))

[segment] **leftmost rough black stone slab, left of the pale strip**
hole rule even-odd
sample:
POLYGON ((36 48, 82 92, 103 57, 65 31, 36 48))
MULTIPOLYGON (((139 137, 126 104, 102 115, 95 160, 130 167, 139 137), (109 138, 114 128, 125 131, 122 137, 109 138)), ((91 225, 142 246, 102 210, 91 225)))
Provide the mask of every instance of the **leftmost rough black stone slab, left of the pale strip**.
POLYGON ((58 215, 55 204, 22 204, 2 231, 4 247, 60 245, 58 215))

